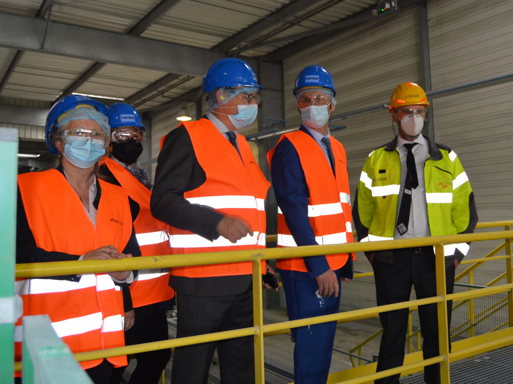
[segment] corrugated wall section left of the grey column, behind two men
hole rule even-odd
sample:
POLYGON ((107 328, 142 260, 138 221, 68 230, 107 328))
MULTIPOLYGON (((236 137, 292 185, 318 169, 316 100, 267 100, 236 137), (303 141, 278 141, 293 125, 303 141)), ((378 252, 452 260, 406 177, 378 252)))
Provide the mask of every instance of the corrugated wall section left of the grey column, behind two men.
MULTIPOLYGON (((388 103, 391 91, 404 81, 421 79, 417 8, 362 24, 335 38, 288 58, 285 69, 285 115, 287 126, 298 126, 301 118, 292 95, 295 77, 307 65, 326 67, 337 88, 337 106, 332 116, 388 103)), ((334 120, 345 125, 333 132, 347 153, 351 198, 367 155, 393 139, 386 109, 334 120)), ((397 127, 396 127, 397 130, 397 127)))

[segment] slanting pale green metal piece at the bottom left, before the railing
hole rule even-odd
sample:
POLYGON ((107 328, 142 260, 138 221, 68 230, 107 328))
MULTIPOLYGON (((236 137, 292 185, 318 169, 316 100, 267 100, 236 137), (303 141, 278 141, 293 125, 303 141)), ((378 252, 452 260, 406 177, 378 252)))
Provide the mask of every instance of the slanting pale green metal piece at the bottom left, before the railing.
POLYGON ((93 384, 69 347, 55 334, 48 315, 23 318, 24 384, 93 384))

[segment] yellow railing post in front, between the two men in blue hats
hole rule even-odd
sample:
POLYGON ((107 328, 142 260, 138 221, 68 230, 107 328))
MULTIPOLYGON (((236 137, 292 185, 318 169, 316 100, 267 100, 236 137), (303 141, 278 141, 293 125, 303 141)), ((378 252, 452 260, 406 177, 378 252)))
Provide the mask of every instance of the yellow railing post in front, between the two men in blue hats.
POLYGON ((264 315, 262 301, 262 265, 253 260, 253 325, 255 327, 255 384, 264 384, 264 315))

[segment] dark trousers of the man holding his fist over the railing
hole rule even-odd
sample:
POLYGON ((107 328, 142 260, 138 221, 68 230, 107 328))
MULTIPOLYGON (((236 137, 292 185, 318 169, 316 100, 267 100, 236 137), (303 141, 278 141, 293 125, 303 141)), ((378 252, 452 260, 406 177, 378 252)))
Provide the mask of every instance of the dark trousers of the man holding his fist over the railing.
MULTIPOLYGON (((252 287, 237 295, 177 295, 176 337, 229 331, 253 326, 252 287)), ((204 384, 218 349, 221 384, 254 382, 253 336, 195 344, 175 349, 171 382, 204 384)))

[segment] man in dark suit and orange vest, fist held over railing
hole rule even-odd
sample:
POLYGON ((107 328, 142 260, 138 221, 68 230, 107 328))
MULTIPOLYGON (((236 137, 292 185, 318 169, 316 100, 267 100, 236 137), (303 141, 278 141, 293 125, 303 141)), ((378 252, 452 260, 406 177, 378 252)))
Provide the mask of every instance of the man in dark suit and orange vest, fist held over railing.
MULTIPOLYGON (((237 134, 257 117, 261 89, 246 62, 218 60, 203 78, 210 112, 166 136, 150 206, 169 225, 173 253, 265 248, 270 184, 237 134)), ((262 263, 262 271, 268 269, 262 263)), ((176 336, 252 327, 251 273, 251 262, 171 268, 176 336)), ((221 382, 254 382, 253 337, 246 336, 176 348, 173 384, 206 383, 216 348, 221 382)))

